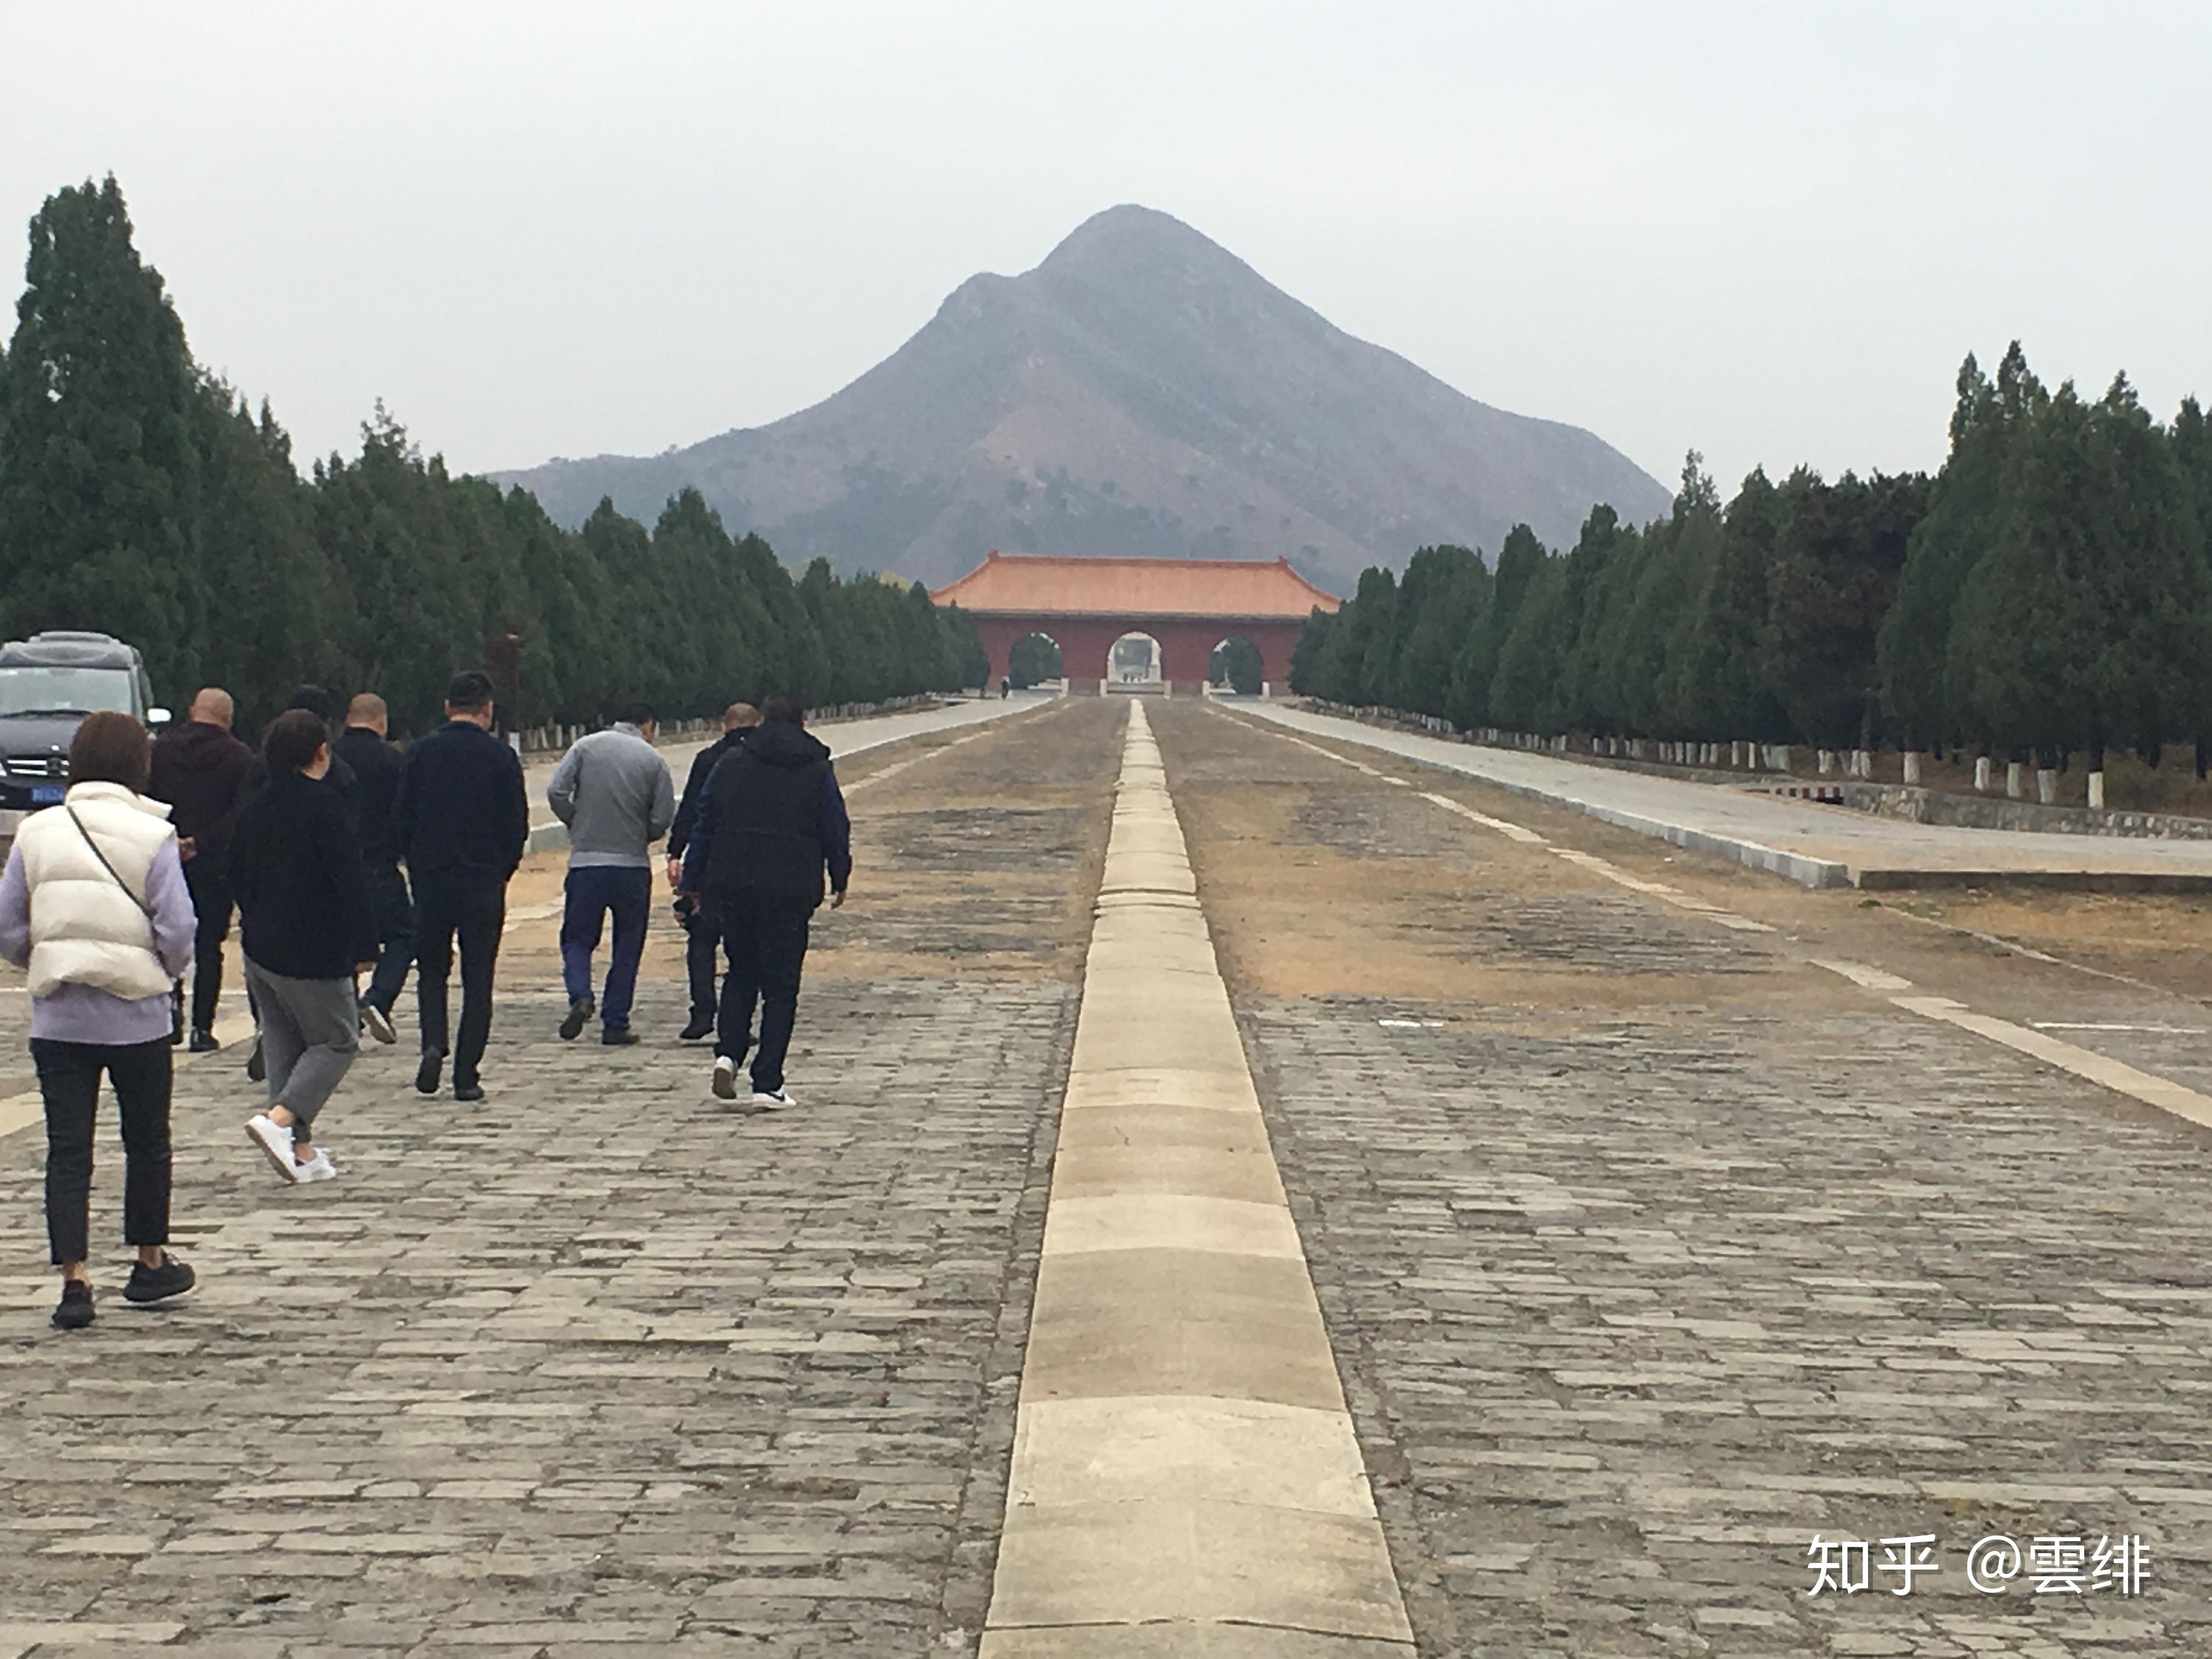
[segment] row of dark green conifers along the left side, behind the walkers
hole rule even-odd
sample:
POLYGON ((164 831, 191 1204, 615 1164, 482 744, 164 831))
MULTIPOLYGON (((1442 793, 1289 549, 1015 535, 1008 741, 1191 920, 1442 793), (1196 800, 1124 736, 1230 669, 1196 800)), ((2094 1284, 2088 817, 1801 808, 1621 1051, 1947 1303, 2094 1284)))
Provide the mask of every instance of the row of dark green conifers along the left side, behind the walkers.
POLYGON ((113 177, 31 221, 0 354, 0 628, 113 633, 164 699, 219 684, 254 721, 299 684, 369 688, 411 730, 465 666, 507 681, 518 726, 987 675, 973 626, 918 582, 825 560, 794 580, 690 489, 653 529, 599 502, 566 531, 526 491, 425 458, 383 405, 358 456, 303 478, 268 403, 192 361, 113 177))

